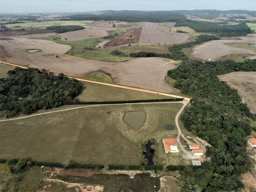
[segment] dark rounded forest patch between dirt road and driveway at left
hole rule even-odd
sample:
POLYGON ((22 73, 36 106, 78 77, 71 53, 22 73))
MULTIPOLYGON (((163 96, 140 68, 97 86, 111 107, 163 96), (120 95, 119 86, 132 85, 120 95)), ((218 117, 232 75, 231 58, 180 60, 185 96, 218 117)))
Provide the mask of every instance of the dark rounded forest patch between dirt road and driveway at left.
POLYGON ((18 112, 29 114, 37 109, 51 109, 72 100, 81 90, 81 83, 63 73, 16 67, 0 79, 0 113, 6 118, 18 112))

